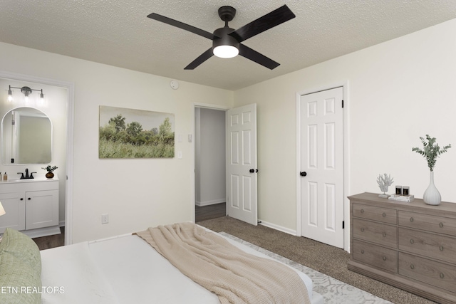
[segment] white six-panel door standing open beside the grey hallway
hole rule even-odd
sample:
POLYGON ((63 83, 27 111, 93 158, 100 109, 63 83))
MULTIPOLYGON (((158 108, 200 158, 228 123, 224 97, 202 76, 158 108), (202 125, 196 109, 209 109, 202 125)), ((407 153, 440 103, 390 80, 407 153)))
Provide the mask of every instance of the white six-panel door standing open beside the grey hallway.
POLYGON ((227 216, 257 226, 257 105, 227 110, 227 216))

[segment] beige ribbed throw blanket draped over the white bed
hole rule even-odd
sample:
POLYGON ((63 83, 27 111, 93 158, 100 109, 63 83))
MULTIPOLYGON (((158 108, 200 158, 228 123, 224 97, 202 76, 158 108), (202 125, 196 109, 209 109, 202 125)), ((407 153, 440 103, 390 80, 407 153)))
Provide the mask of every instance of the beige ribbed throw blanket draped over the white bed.
POLYGON ((245 253, 192 223, 149 228, 138 236, 220 303, 310 304, 299 275, 277 261, 245 253))

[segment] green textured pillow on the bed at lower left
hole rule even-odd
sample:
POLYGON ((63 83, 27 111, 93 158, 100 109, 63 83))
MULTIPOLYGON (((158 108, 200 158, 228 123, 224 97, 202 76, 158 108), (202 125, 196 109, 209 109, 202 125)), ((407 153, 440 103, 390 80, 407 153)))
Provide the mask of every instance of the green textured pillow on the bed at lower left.
POLYGON ((41 303, 41 255, 25 234, 7 228, 0 243, 0 303, 41 303))

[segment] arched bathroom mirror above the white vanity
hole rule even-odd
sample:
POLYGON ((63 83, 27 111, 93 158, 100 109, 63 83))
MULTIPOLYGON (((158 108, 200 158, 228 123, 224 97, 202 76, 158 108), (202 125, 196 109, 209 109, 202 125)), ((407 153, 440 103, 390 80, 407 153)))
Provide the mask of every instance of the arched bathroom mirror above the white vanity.
POLYGON ((34 108, 16 108, 1 120, 3 164, 48 164, 51 162, 52 124, 34 108))

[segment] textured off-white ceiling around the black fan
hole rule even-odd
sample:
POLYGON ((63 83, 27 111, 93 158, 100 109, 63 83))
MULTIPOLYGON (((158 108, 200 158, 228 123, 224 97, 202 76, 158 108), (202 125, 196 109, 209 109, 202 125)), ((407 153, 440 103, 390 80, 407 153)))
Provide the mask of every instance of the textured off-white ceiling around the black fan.
POLYGON ((237 90, 455 18, 455 0, 0 0, 0 41, 237 90), (184 70, 212 42, 146 17, 212 32, 224 26, 219 6, 237 9, 236 29, 284 4, 295 19, 244 41, 274 70, 242 56, 184 70))

